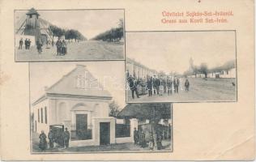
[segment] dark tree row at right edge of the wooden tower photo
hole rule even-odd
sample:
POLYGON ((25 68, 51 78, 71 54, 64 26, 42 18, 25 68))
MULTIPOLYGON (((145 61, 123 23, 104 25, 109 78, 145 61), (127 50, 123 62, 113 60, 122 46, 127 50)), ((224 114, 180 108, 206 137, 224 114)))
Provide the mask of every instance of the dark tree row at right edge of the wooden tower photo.
POLYGON ((99 35, 92 38, 92 40, 119 41, 124 36, 123 32, 123 19, 119 19, 117 28, 111 28, 106 32, 102 32, 99 35))

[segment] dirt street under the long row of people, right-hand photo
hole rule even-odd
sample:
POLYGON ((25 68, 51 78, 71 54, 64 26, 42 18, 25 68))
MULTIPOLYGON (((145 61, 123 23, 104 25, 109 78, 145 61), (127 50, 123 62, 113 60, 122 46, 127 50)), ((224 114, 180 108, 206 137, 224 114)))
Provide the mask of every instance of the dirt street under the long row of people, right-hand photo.
POLYGON ((160 95, 148 96, 143 95, 140 98, 131 97, 131 91, 128 89, 128 102, 197 102, 197 101, 235 101, 237 100, 237 83, 236 79, 189 79, 190 91, 186 92, 184 81, 181 82, 178 93, 168 96, 167 93, 161 92, 160 95), (235 85, 233 85, 235 83, 235 85), (182 85, 182 86, 181 86, 182 85))

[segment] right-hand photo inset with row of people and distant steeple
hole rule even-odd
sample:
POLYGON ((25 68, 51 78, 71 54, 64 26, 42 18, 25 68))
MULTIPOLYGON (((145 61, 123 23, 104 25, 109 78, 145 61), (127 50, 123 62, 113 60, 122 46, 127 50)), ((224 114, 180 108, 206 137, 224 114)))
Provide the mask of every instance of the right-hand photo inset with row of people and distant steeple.
POLYGON ((126 102, 236 102, 236 31, 126 32, 126 102))

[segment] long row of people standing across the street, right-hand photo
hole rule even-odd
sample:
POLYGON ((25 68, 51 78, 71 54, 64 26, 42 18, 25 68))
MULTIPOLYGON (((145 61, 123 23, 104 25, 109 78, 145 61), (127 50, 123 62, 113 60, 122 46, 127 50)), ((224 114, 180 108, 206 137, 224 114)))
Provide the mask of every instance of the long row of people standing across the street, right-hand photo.
MULTIPOLYGON (((132 98, 134 99, 134 93, 136 94, 137 98, 139 98, 138 92, 138 85, 141 83, 146 83, 146 89, 148 96, 152 95, 163 95, 163 93, 167 93, 168 96, 174 93, 179 92, 179 87, 181 84, 181 79, 177 77, 158 77, 154 76, 147 76, 147 79, 134 79, 133 76, 128 76, 127 82, 129 83, 132 98)), ((189 91, 190 82, 186 79, 184 86, 186 87, 186 92, 189 91)))

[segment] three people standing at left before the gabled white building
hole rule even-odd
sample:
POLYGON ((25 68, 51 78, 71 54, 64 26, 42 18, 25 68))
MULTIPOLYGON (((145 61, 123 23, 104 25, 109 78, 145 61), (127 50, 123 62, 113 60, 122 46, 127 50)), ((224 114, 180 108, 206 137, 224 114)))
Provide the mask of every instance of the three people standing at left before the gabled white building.
MULTIPOLYGON (((70 132, 67 130, 67 128, 63 132, 62 136, 63 136, 62 138, 63 138, 64 147, 68 148, 69 141, 70 141, 70 132)), ((45 151, 48 148, 48 144, 47 144, 47 140, 46 140, 47 137, 44 130, 41 131, 41 134, 39 135, 39 139, 40 139, 39 148, 41 149, 41 151, 45 151)), ((49 130, 48 139, 49 139, 49 149, 53 149, 54 147, 53 143, 56 140, 56 137, 52 129, 49 130)))

